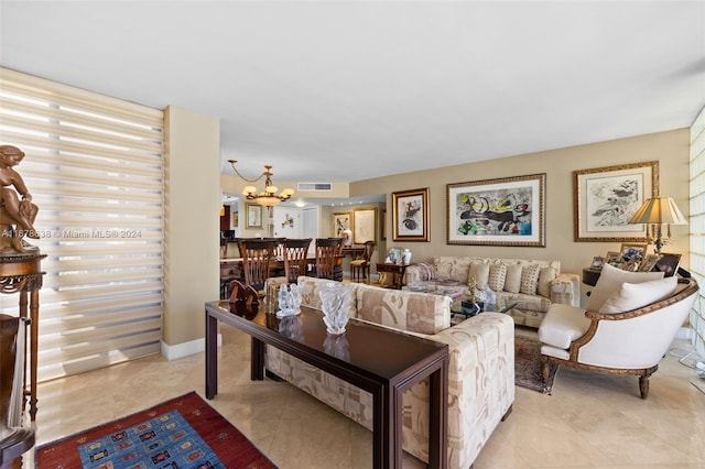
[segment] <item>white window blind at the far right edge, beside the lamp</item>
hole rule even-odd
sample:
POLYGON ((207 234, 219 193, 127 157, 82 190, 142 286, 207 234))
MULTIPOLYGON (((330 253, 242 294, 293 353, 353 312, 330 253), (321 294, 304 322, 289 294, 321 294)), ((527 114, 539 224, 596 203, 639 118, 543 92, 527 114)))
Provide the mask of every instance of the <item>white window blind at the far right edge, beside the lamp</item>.
POLYGON ((691 273, 701 290, 691 312, 691 327, 694 330, 693 346, 705 358, 705 109, 691 127, 690 160, 690 231, 691 273))

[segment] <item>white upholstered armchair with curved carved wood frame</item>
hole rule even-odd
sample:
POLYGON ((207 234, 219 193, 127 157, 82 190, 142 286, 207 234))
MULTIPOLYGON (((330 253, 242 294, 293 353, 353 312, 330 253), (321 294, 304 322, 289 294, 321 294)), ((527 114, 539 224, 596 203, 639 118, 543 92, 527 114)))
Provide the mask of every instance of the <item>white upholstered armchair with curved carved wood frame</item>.
MULTIPOLYGON (((600 282, 603 276, 596 291, 600 282)), ((539 328, 543 379, 547 380, 550 363, 637 375, 641 399, 647 399, 649 377, 658 370, 695 303, 697 282, 675 277, 638 282, 632 277, 610 290, 603 292, 601 298, 590 297, 595 302, 588 302, 587 310, 551 305, 539 328)))

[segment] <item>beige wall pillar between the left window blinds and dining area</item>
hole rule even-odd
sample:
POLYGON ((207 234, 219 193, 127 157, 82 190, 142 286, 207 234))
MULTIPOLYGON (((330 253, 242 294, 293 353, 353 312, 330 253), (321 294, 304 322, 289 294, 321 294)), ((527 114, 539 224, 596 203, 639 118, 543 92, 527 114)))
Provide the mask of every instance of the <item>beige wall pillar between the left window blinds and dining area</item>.
POLYGON ((220 123, 170 106, 165 129, 163 341, 173 346, 204 337, 204 304, 219 296, 220 123))

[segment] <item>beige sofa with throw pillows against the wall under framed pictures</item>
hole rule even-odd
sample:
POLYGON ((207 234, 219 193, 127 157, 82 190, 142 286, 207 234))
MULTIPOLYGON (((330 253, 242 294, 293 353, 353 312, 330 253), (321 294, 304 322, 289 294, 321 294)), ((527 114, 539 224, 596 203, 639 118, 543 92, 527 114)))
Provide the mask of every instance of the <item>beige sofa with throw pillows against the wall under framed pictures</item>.
POLYGON ((436 257, 433 263, 406 268, 404 283, 411 286, 425 282, 433 287, 466 291, 475 282, 488 285, 498 299, 516 306, 509 310, 514 323, 539 328, 553 303, 579 306, 581 280, 577 274, 561 272, 560 261, 436 257))

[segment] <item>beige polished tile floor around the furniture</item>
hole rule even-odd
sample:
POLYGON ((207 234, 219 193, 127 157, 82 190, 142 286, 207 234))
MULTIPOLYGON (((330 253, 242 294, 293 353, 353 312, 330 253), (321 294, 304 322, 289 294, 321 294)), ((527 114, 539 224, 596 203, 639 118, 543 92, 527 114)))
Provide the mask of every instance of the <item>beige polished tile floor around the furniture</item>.
MULTIPOLYGON (((249 380, 249 338, 224 326, 220 393, 210 404, 272 461, 286 468, 368 468, 370 433, 283 382, 249 380)), ((520 331, 525 334, 525 331, 520 331)), ((704 468, 705 394, 675 342, 651 379, 647 401, 636 378, 558 370, 553 394, 517 389, 513 412, 475 462, 484 468, 704 468)), ((40 444, 196 390, 203 353, 167 362, 153 356, 42 383, 40 444)), ((31 456, 26 467, 33 467, 31 456)), ((409 458, 405 467, 422 467, 409 458)))

